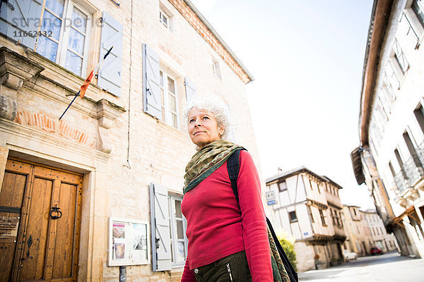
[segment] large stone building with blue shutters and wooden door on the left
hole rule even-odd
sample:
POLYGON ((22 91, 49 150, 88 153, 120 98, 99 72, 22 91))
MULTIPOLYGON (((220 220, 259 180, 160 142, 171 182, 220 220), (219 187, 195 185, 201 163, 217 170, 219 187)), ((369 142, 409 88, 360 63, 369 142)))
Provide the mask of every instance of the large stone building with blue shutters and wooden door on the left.
POLYGON ((179 281, 182 109, 221 97, 260 173, 252 75, 188 0, 1 1, 0 45, 0 281, 179 281))

